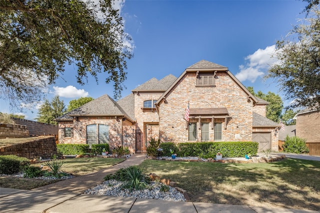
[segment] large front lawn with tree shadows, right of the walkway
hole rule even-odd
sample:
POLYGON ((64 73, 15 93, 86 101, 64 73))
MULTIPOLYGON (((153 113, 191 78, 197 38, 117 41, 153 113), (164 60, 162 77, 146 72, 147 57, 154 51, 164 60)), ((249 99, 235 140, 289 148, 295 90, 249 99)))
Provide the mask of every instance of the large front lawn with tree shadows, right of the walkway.
POLYGON ((192 202, 320 210, 320 162, 264 164, 145 160, 144 171, 170 179, 192 202))

